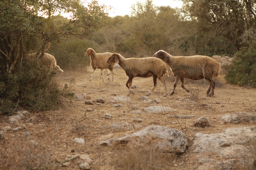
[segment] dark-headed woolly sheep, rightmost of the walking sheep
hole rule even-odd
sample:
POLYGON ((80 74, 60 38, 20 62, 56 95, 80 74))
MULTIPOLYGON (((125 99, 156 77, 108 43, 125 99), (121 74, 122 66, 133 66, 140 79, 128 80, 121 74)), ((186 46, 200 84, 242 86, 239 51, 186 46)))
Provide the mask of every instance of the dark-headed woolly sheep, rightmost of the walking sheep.
POLYGON ((177 56, 173 57, 164 50, 157 51, 153 57, 160 58, 170 67, 175 82, 170 95, 174 94, 175 87, 180 79, 181 87, 189 92, 184 86, 184 78, 192 80, 206 79, 209 82, 207 96, 214 95, 215 82, 220 73, 220 64, 208 56, 177 56), (211 91, 211 93, 210 93, 211 91))

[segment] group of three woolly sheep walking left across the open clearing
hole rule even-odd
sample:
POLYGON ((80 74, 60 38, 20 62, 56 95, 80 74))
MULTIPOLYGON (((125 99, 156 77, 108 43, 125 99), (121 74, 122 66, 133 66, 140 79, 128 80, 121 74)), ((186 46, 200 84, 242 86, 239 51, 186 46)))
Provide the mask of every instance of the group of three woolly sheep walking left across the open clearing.
POLYGON ((180 79, 181 86, 187 92, 189 90, 184 86, 184 78, 192 80, 206 79, 209 82, 209 87, 207 89, 207 96, 214 95, 215 82, 213 78, 217 78, 220 73, 220 63, 215 59, 208 56, 177 56, 174 57, 168 54, 164 50, 157 51, 152 57, 146 58, 124 58, 117 53, 95 53, 92 48, 88 48, 85 56, 91 57, 92 66, 92 76, 90 81, 92 81, 93 73, 95 69, 101 69, 102 81, 104 82, 104 77, 102 75, 103 69, 109 69, 112 75, 112 81, 114 81, 113 67, 114 63, 118 63, 120 67, 125 71, 126 75, 129 77, 126 82, 126 86, 129 89, 129 96, 131 93, 134 94, 132 87, 132 79, 134 77, 153 77, 154 86, 147 93, 146 96, 152 94, 152 92, 157 87, 157 79, 159 79, 164 84, 165 94, 167 96, 167 82, 163 79, 163 75, 168 74, 169 67, 175 76, 176 80, 173 85, 173 90, 170 95, 174 94, 175 87, 180 79))

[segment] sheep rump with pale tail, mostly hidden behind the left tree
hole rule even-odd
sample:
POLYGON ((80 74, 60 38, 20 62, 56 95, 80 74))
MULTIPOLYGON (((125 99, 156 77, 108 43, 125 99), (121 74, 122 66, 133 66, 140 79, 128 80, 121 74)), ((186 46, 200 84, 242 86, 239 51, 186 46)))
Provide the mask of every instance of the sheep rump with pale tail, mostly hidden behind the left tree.
MULTIPOLYGON (((27 54, 26 57, 29 57, 30 59, 31 59, 31 57, 35 58, 36 53, 27 54)), ((57 62, 56 62, 56 59, 54 56, 52 56, 48 53, 44 53, 41 60, 46 64, 46 67, 48 69, 57 69, 57 70, 63 72, 63 70, 57 65, 57 62)))

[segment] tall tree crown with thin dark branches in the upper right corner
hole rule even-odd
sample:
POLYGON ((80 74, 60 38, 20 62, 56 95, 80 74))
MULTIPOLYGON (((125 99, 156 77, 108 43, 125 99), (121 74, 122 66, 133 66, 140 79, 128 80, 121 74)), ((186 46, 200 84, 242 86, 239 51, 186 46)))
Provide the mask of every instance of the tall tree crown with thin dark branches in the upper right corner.
POLYGON ((237 51, 256 37, 255 0, 182 0, 182 12, 198 30, 227 38, 237 51))

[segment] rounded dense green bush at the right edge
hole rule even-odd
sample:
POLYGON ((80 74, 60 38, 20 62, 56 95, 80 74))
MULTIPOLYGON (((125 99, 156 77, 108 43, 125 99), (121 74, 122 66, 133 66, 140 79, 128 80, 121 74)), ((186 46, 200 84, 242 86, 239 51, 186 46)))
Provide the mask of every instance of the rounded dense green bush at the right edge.
POLYGON ((228 83, 239 86, 256 87, 256 41, 248 42, 232 60, 225 79, 228 83))

